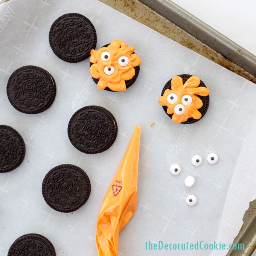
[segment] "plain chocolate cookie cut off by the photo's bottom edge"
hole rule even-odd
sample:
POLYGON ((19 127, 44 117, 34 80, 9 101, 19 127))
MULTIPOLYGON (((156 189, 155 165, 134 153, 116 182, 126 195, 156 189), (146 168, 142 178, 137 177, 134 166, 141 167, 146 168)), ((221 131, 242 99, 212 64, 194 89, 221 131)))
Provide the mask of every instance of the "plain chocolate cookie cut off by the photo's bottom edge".
POLYGON ((20 236, 11 245, 8 256, 56 256, 52 243, 39 234, 20 236))

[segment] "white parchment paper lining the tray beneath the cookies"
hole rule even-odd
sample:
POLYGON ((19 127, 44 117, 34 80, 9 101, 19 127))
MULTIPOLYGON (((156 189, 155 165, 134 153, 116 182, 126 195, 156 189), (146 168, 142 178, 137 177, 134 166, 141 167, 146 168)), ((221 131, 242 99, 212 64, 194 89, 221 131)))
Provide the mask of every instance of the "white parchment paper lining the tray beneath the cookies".
POLYGON ((26 233, 46 236, 58 256, 96 255, 98 211, 135 125, 142 127, 138 206, 120 232, 119 255, 206 256, 213 252, 149 251, 145 243, 233 241, 256 198, 254 84, 95 0, 11 0, 0 6, 0 22, 0 123, 16 129, 26 143, 23 163, 0 174, 0 255, 26 233), (96 49, 113 39, 135 47, 142 64, 127 91, 99 91, 89 59, 72 64, 54 55, 50 26, 69 12, 94 24, 96 49), (40 66, 55 78, 56 99, 43 113, 20 113, 8 101, 8 78, 25 65, 40 66), (190 125, 173 123, 157 102, 166 81, 183 73, 199 76, 210 89, 206 115, 190 125), (76 150, 67 136, 70 117, 86 105, 107 108, 118 123, 116 141, 101 154, 76 150), (219 156, 215 165, 207 162, 210 152, 219 156), (198 167, 190 162, 195 154, 203 158, 198 167), (78 165, 91 181, 87 203, 68 214, 52 210, 41 195, 46 173, 63 163, 78 165), (180 175, 171 175, 174 163, 180 175), (189 175, 195 177, 193 187, 184 185, 189 175), (186 204, 190 194, 198 200, 192 207, 186 204))

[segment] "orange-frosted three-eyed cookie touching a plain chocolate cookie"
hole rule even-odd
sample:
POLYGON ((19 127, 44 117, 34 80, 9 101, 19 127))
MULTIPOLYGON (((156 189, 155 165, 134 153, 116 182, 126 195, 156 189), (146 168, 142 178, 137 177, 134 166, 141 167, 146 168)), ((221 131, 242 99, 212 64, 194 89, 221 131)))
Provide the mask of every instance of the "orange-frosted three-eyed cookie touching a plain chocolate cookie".
POLYGON ((134 49, 123 41, 113 40, 99 50, 91 50, 90 73, 99 90, 125 91, 135 82, 141 60, 134 49))

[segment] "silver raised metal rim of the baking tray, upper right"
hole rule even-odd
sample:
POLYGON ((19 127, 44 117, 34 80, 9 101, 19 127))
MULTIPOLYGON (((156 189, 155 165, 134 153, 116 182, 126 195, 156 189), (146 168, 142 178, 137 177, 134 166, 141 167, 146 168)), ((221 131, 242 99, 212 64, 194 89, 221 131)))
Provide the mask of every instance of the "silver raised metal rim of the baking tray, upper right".
POLYGON ((140 0, 181 29, 256 76, 256 56, 170 0, 140 0))

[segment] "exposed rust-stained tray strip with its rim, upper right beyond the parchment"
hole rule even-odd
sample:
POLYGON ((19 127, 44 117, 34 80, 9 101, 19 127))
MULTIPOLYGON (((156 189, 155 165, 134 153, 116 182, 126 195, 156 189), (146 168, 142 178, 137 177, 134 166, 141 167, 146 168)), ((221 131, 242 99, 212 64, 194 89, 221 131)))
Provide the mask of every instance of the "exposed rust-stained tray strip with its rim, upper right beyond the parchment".
POLYGON ((99 0, 256 84, 256 56, 170 0, 99 0))

